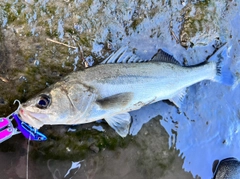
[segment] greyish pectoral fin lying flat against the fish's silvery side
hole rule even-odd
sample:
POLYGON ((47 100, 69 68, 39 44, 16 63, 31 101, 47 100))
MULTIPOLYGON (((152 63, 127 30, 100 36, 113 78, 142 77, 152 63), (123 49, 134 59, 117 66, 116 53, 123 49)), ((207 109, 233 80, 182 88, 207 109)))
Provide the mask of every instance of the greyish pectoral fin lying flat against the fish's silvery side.
POLYGON ((132 100, 132 97, 132 93, 119 93, 96 102, 102 109, 122 108, 132 100))

